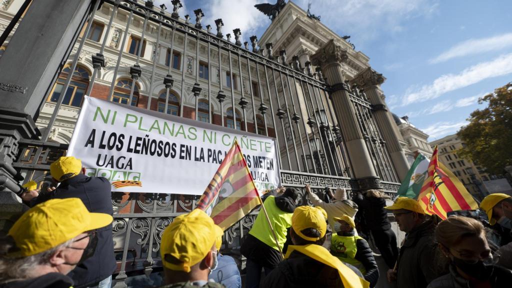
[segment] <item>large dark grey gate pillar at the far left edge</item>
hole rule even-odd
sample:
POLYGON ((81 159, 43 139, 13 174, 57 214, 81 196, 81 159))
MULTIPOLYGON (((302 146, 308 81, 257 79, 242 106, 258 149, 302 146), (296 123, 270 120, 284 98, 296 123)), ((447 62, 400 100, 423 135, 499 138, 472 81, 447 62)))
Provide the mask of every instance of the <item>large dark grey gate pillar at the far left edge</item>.
POLYGON ((33 1, 0 59, 0 234, 26 207, 15 195, 18 141, 38 139, 34 120, 95 0, 33 1))

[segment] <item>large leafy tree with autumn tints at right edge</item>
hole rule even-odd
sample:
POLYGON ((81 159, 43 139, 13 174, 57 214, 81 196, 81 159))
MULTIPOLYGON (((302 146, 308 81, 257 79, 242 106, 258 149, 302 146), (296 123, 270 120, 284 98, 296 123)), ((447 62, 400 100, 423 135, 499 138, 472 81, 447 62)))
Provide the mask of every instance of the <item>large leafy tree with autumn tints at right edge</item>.
POLYGON ((466 146, 459 152, 492 174, 503 174, 512 165, 512 82, 478 99, 485 109, 471 113, 470 124, 457 135, 466 146))

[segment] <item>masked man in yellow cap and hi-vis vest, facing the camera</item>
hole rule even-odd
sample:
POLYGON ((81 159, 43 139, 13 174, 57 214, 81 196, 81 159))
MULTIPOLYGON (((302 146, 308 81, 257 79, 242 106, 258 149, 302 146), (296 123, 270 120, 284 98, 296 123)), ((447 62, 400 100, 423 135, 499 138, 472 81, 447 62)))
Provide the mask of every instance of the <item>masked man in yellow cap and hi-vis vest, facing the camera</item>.
POLYGON ((355 266, 374 287, 379 279, 379 269, 368 242, 355 235, 355 222, 348 215, 334 217, 334 233, 331 237, 331 254, 342 262, 355 266))

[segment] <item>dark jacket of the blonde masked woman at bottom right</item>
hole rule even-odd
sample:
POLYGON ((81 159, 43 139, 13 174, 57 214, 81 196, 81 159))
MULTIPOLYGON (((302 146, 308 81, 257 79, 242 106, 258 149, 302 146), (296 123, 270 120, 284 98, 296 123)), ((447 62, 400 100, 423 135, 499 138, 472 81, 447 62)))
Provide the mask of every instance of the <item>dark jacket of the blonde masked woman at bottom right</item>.
MULTIPOLYGON (((512 282, 512 271, 500 266, 485 266, 489 275, 489 283, 492 288, 510 287, 512 282)), ((450 265, 450 273, 432 281, 427 288, 468 288, 472 287, 470 282, 457 273, 457 269, 450 265)))

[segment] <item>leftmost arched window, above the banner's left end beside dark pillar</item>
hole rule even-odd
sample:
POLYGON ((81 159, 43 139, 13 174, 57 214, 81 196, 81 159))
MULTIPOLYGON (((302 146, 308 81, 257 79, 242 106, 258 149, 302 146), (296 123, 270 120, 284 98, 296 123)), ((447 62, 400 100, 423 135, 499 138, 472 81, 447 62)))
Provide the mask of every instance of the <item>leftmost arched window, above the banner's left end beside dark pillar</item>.
MULTIPOLYGON (((50 97, 48 97, 48 101, 57 102, 59 100, 59 97, 62 94, 62 88, 64 88, 66 78, 68 77, 70 71, 70 65, 66 65, 64 69, 62 69, 62 72, 60 72, 59 77, 57 78, 57 82, 53 86, 50 97)), ((83 95, 86 94, 88 86, 89 71, 83 67, 76 66, 75 71, 73 72, 73 76, 71 77, 68 90, 66 91, 64 99, 62 100, 62 104, 81 107, 83 95)))

